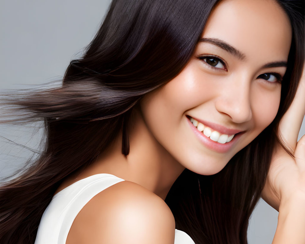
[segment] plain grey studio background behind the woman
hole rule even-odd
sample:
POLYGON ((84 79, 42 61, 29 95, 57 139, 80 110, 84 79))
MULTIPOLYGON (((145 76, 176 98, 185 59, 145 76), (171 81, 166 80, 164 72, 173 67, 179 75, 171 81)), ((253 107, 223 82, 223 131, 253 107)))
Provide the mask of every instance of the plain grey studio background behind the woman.
MULTIPOLYGON (((72 57, 99 28, 110 0, 0 1, 0 89, 27 88, 63 77, 72 57)), ((305 120, 299 138, 305 134, 305 120)), ((0 177, 25 162, 29 151, 9 140, 36 149, 41 130, 0 125, 0 177), (5 139, 5 138, 9 139, 5 139)), ((278 212, 260 199, 250 218, 249 244, 269 244, 278 212)))

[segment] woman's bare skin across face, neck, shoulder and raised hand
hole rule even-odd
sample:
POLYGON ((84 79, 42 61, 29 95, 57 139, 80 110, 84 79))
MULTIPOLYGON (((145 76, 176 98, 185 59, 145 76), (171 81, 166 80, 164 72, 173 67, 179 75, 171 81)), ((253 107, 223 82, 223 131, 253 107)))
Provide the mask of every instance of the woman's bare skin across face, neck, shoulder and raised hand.
MULTIPOLYGON (((120 134, 95 163, 67 178, 56 191, 93 174, 125 179, 84 206, 67 244, 173 244, 174 217, 163 200, 181 172, 188 168, 203 175, 216 174, 274 120, 281 95, 277 76, 284 76, 286 67, 263 66, 288 59, 292 30, 281 7, 272 0, 221 1, 202 38, 209 39, 197 45, 181 73, 145 95, 133 110, 128 125, 129 155, 125 158, 121 153, 120 134), (237 51, 224 50, 215 40, 237 51), (228 152, 218 153, 196 138, 186 115, 245 133, 228 152)), ((305 229, 300 220, 305 219, 300 210, 305 203, 305 137, 296 143, 305 113, 304 94, 303 79, 280 127, 298 159, 278 147, 262 194, 280 211, 273 244, 305 242, 304 232, 296 232, 305 229), (289 238, 295 242, 288 242, 289 238)))

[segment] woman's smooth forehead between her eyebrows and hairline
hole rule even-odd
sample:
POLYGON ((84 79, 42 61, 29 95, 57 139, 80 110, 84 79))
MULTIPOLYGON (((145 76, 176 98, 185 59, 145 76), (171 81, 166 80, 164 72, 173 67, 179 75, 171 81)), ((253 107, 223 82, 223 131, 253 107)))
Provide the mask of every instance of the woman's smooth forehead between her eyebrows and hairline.
POLYGON ((202 37, 221 39, 246 58, 285 60, 292 29, 285 11, 274 0, 223 0, 210 14, 202 37))

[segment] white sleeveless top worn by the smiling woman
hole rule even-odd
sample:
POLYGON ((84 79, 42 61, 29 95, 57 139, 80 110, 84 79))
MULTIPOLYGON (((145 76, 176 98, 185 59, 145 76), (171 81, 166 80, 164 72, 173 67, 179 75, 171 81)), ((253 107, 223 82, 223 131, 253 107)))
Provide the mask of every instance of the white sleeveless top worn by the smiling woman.
MULTIPOLYGON (((81 209, 102 190, 120 181, 112 174, 95 174, 76 181, 55 194, 41 217, 35 244, 65 244, 81 209)), ((174 244, 195 244, 184 231, 175 229, 174 244)))

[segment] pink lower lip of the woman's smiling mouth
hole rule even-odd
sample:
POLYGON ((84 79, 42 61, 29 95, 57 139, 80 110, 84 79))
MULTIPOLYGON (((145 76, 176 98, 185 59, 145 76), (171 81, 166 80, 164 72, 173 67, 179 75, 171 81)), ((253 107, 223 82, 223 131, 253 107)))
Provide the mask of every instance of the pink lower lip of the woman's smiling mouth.
POLYGON ((192 130, 194 131, 194 133, 197 136, 197 138, 199 139, 199 141, 201 141, 203 143, 203 145, 205 145, 207 148, 212 149, 215 152, 221 152, 221 153, 228 152, 232 148, 232 146, 235 144, 235 142, 238 140, 238 138, 241 137, 241 135, 244 133, 244 132, 240 132, 237 135, 235 135, 230 142, 226 142, 226 143, 222 144, 222 143, 211 140, 209 137, 204 135, 202 132, 198 131, 197 128, 193 125, 193 123, 188 118, 187 118, 187 120, 188 120, 188 124, 191 126, 192 130))

